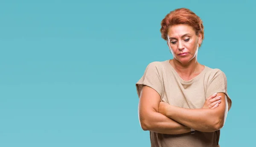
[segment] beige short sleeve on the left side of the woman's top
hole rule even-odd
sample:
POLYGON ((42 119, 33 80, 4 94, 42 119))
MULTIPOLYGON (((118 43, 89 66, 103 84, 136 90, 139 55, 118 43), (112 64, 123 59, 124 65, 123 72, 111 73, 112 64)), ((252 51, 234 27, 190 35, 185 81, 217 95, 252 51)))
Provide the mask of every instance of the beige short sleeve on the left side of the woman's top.
POLYGON ((153 88, 162 98, 163 92, 163 80, 162 80, 162 68, 160 62, 151 62, 145 69, 143 76, 136 83, 137 94, 140 98, 140 92, 143 85, 153 88))

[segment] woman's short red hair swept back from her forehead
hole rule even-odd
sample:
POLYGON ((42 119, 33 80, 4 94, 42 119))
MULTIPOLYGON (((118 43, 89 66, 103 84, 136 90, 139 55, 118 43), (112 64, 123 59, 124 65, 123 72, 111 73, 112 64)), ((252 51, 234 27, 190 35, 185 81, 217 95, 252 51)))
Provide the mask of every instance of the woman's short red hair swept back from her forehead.
MULTIPOLYGON (((162 38, 164 40, 168 40, 167 33, 170 26, 178 25, 178 24, 186 24, 191 26, 196 35, 201 33, 202 41, 204 39, 204 25, 203 21, 200 17, 198 17, 194 12, 186 8, 179 8, 171 11, 166 17, 161 21, 161 29, 160 32, 162 34, 162 38)), ((201 44, 199 44, 201 46, 201 44)))

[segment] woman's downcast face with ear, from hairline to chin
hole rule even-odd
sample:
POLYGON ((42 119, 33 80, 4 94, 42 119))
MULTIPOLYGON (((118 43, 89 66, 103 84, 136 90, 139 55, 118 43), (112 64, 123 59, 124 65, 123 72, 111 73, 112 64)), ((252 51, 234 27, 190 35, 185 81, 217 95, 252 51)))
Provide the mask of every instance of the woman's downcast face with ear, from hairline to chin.
POLYGON ((201 34, 196 35, 191 26, 183 24, 171 26, 167 37, 169 49, 177 61, 186 64, 197 58, 201 34))

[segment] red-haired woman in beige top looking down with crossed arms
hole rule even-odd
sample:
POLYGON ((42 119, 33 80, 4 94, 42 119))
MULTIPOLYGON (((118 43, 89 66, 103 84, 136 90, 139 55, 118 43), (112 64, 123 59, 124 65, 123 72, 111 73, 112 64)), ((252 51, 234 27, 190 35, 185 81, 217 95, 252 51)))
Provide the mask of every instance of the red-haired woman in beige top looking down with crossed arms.
POLYGON ((176 9, 162 20, 160 32, 173 59, 149 63, 136 83, 140 124, 150 131, 151 147, 219 147, 232 103, 224 72, 197 61, 202 20, 176 9))

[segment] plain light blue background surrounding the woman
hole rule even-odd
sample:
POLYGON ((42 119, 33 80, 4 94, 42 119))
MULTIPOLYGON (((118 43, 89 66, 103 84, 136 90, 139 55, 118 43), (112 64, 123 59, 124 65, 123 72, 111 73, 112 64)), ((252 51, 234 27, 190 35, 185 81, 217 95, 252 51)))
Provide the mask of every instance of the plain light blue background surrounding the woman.
POLYGON ((150 147, 135 83, 172 58, 160 21, 204 21, 200 63, 225 72, 233 100, 221 147, 255 143, 253 0, 1 0, 0 147, 150 147))

